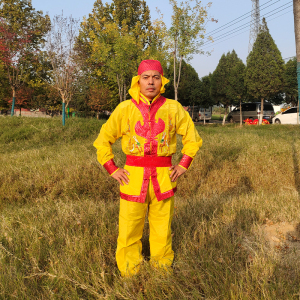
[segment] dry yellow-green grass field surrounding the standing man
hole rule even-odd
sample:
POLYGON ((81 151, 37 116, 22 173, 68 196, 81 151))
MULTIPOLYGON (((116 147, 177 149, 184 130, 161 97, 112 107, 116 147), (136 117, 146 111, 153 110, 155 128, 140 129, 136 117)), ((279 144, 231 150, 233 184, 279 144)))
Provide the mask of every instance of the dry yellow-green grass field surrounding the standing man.
MULTIPOLYGON (((179 180, 173 274, 115 263, 118 185, 92 146, 102 121, 0 118, 0 299, 298 299, 299 252, 259 228, 300 222, 296 126, 198 126, 179 180)), ((174 161, 180 159, 178 147, 174 161)), ((116 163, 125 156, 114 145, 116 163)))

